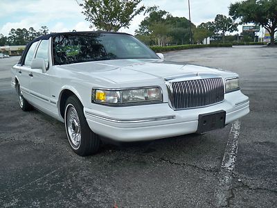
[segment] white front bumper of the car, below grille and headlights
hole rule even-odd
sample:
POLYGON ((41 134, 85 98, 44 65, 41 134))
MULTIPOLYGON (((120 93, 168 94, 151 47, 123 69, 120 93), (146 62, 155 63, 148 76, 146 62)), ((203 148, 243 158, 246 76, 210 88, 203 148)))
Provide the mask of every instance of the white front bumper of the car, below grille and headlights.
POLYGON ((116 141, 143 141, 186 135, 197 131, 199 114, 226 111, 226 124, 249 113, 249 98, 236 91, 208 107, 172 110, 168 103, 129 107, 84 107, 93 132, 116 141))

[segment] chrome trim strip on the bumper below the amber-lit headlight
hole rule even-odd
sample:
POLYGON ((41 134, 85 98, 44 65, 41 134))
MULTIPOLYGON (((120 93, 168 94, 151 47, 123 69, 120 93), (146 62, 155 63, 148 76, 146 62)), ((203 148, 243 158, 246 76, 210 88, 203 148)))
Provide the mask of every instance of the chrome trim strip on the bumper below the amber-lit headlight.
POLYGON ((114 119, 107 116, 100 116, 98 114, 93 114, 91 112, 85 112, 88 116, 93 116, 97 119, 102 119, 105 121, 110 121, 114 123, 144 123, 144 122, 152 122, 152 121, 165 121, 170 119, 175 119, 176 116, 159 116, 159 117, 150 117, 150 118, 141 118, 141 119, 114 119))

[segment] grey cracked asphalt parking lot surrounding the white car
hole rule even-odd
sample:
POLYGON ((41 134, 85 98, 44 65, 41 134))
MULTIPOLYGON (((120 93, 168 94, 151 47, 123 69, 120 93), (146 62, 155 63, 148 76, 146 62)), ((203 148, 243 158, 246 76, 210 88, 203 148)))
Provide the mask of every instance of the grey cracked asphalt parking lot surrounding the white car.
POLYGON ((276 207, 277 48, 165 57, 239 73, 251 112, 206 135, 107 144, 79 157, 63 123, 19 109, 9 72, 19 57, 0 59, 0 207, 276 207))

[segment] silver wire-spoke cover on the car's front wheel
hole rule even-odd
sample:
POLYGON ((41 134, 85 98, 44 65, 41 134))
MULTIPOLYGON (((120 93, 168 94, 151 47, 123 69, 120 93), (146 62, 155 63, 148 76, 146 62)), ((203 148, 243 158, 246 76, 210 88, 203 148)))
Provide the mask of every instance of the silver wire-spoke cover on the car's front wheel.
POLYGON ((81 123, 78 112, 72 104, 66 106, 65 127, 69 143, 72 148, 78 149, 81 143, 81 123))

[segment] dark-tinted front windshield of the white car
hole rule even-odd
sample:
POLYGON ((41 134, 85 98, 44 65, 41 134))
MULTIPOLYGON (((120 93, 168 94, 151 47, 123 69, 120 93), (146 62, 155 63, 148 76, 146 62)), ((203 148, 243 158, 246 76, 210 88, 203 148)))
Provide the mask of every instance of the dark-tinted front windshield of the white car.
POLYGON ((53 59, 57 65, 127 58, 159 59, 132 35, 82 33, 53 38, 53 59))

